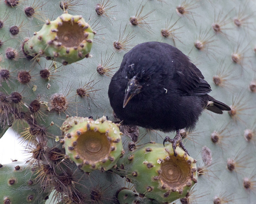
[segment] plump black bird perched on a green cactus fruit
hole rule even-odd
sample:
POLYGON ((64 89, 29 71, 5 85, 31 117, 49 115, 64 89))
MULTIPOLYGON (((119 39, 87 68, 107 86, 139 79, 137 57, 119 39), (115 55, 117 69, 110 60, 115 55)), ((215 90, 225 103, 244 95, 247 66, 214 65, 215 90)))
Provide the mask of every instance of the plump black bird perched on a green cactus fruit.
POLYGON ((193 130, 203 109, 218 114, 230 111, 209 96, 210 91, 201 71, 180 50, 166 43, 146 42, 124 55, 108 95, 123 124, 176 131, 174 139, 166 137, 163 145, 172 142, 175 150, 179 143, 186 151, 180 129, 193 130))

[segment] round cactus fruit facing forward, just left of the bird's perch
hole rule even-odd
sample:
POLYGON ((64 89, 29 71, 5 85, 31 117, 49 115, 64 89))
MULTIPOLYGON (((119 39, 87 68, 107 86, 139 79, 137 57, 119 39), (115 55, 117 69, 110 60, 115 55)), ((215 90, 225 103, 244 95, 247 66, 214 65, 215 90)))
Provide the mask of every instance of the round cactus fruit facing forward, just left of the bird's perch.
POLYGON ((85 172, 109 170, 124 153, 122 133, 104 116, 95 121, 71 117, 63 122, 61 130, 66 155, 85 172))

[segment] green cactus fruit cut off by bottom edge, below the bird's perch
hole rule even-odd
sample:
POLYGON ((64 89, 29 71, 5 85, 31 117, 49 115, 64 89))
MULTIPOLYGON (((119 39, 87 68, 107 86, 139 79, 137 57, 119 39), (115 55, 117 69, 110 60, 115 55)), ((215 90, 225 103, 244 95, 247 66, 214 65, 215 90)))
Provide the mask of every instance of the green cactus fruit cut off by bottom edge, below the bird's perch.
POLYGON ((144 196, 141 196, 139 193, 136 193, 130 189, 123 189, 120 190, 117 199, 119 204, 157 204, 157 201, 149 200, 148 198, 145 198, 144 196))

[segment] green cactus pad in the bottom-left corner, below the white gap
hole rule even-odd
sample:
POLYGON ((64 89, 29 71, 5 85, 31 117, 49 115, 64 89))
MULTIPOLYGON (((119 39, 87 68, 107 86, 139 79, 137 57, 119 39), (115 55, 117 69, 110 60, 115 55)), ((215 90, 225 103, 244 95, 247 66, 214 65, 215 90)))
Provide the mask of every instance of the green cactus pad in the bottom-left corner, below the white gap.
POLYGON ((44 192, 35 181, 29 163, 12 162, 0 164, 0 203, 3 204, 43 204, 49 192, 44 192))

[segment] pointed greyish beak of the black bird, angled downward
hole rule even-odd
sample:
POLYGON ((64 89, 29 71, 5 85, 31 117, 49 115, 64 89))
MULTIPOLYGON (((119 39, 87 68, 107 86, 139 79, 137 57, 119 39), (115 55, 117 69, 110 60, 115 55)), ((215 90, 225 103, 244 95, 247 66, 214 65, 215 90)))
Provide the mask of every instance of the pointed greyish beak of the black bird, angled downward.
POLYGON ((133 96, 139 94, 141 92, 142 86, 138 84, 136 77, 134 76, 127 84, 125 89, 125 98, 123 103, 123 108, 127 105, 127 103, 131 100, 133 96))

